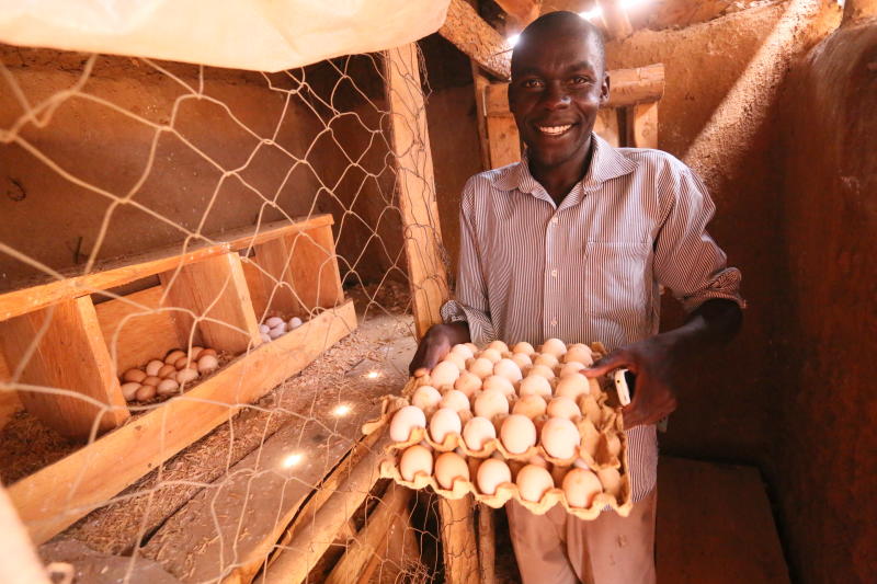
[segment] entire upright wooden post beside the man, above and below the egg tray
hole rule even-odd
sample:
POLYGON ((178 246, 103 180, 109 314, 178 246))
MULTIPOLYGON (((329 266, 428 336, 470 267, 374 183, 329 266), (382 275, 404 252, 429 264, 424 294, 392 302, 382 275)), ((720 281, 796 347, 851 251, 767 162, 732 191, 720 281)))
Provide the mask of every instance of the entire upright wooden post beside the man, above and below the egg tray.
MULTIPOLYGON (((464 5, 471 10, 465 2, 464 5)), ((448 298, 448 290, 417 46, 409 44, 388 50, 385 67, 399 207, 406 230, 408 277, 411 279, 414 323, 420 337, 432 324, 441 322, 438 309, 448 298)), ((470 495, 458 501, 442 499, 438 507, 445 580, 451 584, 475 584, 478 581, 478 558, 472 499, 470 495)))

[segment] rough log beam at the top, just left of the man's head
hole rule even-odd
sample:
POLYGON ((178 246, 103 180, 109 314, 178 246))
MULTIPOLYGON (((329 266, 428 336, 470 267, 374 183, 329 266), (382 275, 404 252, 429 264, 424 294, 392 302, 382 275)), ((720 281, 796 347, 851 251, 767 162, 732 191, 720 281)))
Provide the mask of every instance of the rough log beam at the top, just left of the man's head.
POLYGON ((451 0, 438 34, 500 79, 511 77, 512 47, 465 0, 451 0))

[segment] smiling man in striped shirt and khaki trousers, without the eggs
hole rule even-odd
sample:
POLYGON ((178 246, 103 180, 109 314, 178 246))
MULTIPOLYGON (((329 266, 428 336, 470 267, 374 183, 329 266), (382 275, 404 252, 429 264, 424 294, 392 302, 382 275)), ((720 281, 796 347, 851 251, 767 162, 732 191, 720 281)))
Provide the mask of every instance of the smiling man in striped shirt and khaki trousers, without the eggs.
POLYGON ((654 582, 654 424, 676 406, 674 380, 742 318, 740 272, 706 232, 715 206, 699 179, 670 154, 593 134, 610 82, 600 33, 577 14, 548 13, 521 34, 509 105, 525 159, 466 184, 456 300, 411 363, 412 371, 432 367, 469 340, 559 337, 613 350, 589 376, 637 374, 624 411, 630 515, 584 522, 510 503, 525 584, 654 582), (659 334, 661 286, 688 318, 659 334))

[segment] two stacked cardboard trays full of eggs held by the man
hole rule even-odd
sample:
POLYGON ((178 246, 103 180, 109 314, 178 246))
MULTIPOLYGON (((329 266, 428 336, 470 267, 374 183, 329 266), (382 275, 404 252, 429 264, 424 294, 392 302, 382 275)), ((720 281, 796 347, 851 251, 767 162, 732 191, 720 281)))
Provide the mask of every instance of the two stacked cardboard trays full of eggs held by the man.
MULTIPOLYGON (((604 509, 614 509, 619 515, 627 516, 633 507, 633 501, 627 463, 627 437, 624 433, 622 414, 617 408, 610 403, 610 396, 604 391, 604 387, 610 387, 611 385, 607 379, 590 379, 585 381, 582 379, 583 376, 579 374, 582 368, 586 368, 593 360, 604 354, 605 348, 600 343, 593 343, 591 346, 579 344, 566 347, 562 342, 556 339, 546 341, 540 347, 540 352, 536 352, 527 343, 519 343, 510 350, 504 343, 494 342, 480 352, 470 343, 456 345, 443 360, 443 363, 463 365, 464 368, 459 369, 459 376, 456 380, 447 383, 448 378, 445 374, 452 368, 440 367, 441 363, 431 371, 418 371, 418 376, 410 379, 406 385, 402 390, 402 397, 385 397, 381 416, 363 426, 365 434, 377 432, 387 426, 391 438, 395 440, 386 448, 385 458, 380 463, 381 476, 391 478, 399 484, 411 489, 431 486, 441 496, 447 499, 460 499, 467 494, 472 494, 477 501, 494 508, 513 499, 537 515, 542 515, 559 504, 568 513, 582 519, 594 519, 604 509), (468 351, 462 347, 466 347, 468 351), (463 400, 452 390, 467 385, 466 381, 460 382, 459 379, 460 377, 466 377, 464 373, 470 371, 474 368, 475 360, 481 355, 488 353, 491 359, 497 356, 489 353, 489 350, 494 350, 499 354, 499 358, 493 362, 494 369, 502 369, 503 366, 499 365, 500 362, 505 363, 512 360, 513 357, 517 363, 522 364, 521 379, 512 381, 513 392, 508 390, 504 382, 496 382, 504 388, 502 391, 505 392, 509 401, 508 410, 511 413, 502 413, 500 411, 500 413, 493 415, 479 416, 477 415, 478 400, 487 391, 487 389, 482 389, 485 386, 494 385, 488 381, 491 376, 481 378, 481 388, 474 389, 467 396, 472 404, 469 410, 464 408, 463 400), (526 365, 527 359, 517 358, 520 353, 527 355, 531 365, 526 365), (567 353, 572 358, 567 358, 567 353), (456 358, 454 354, 463 356, 463 362, 460 363, 460 359, 456 358), (469 354, 471 354, 471 357, 467 357, 469 354), (540 358, 546 354, 550 355, 550 357, 540 358), (540 365, 547 367, 555 360, 557 363, 548 367, 551 369, 550 374, 544 369, 536 369, 535 362, 539 362, 540 365), (578 374, 578 376, 574 374, 578 374), (534 412, 532 408, 523 406, 524 404, 519 405, 519 402, 522 401, 535 401, 538 403, 538 400, 526 397, 532 394, 528 391, 524 391, 524 394, 522 394, 522 387, 532 388, 534 386, 531 382, 522 386, 522 381, 533 375, 553 376, 549 380, 551 393, 540 396, 546 403, 546 413, 539 414, 538 408, 534 412), (567 379, 561 385, 560 381, 566 378, 570 379, 567 379), (576 386, 576 382, 588 383, 586 390, 578 394, 576 390, 570 391, 569 387, 571 385, 576 386), (559 388, 560 393, 566 393, 566 396, 558 394, 559 388), (426 400, 424 403, 424 394, 434 396, 433 390, 441 394, 441 401, 437 404, 431 404, 426 400), (563 398, 574 398, 573 401, 580 412, 579 415, 574 414, 574 409, 563 411, 565 408, 571 408, 569 401, 563 398), (455 402, 456 405, 452 409, 458 409, 457 415, 460 417, 460 426, 464 426, 463 431, 456 431, 457 428, 454 426, 451 432, 445 432, 443 436, 434 435, 434 427, 431 426, 433 426, 436 413, 441 410, 447 410, 442 404, 447 405, 455 402), (397 417, 405 417, 407 415, 406 412, 417 415, 418 412, 413 411, 412 406, 421 409, 423 417, 418 417, 420 423, 411 427, 410 431, 406 431, 408 435, 406 439, 399 439, 399 427, 394 427, 400 424, 397 417), (549 415, 553 406, 555 406, 555 412, 560 411, 558 416, 549 415), (472 414, 474 410, 476 415, 472 414), (527 435, 527 432, 519 432, 513 426, 510 433, 502 432, 503 424, 508 422, 509 417, 524 415, 515 414, 519 411, 526 412, 526 416, 531 419, 538 437, 535 444, 525 449, 520 444, 510 449, 504 444, 504 440, 510 443, 520 442, 520 436, 527 435), (567 448, 565 453, 558 453, 556 446, 546 449, 543 443, 543 428, 551 417, 563 416, 570 420, 578 430, 578 443, 574 444, 571 450, 567 448), (493 426, 493 433, 491 436, 482 436, 480 440, 474 442, 468 428, 469 422, 476 420, 476 417, 487 417, 490 425, 493 426), (429 420, 429 423, 424 424, 422 422, 423 419, 429 420), (441 439, 436 440, 436 437, 441 439), (409 455, 412 459, 415 455, 426 458, 426 453, 429 453, 431 460, 423 461, 429 467, 429 472, 424 470, 411 472, 410 469, 407 472, 405 471, 403 467, 406 465, 402 458, 409 450, 412 450, 409 455), (557 456, 558 454, 569 456, 557 456), (443 458, 445 459, 446 468, 455 467, 454 470, 445 472, 444 480, 438 477, 442 474, 438 467, 442 465, 441 460, 443 458), (497 460, 502 461, 503 465, 496 462, 497 460), (487 466, 485 466, 486 463, 487 466), (466 467, 465 469, 463 468, 464 466, 466 467), (485 466, 483 469, 481 468, 482 466, 485 466), (488 467, 490 470, 488 470, 488 467), (508 467, 508 470, 504 467, 508 467), (533 467, 539 467, 544 471, 533 467), (485 472, 479 473, 482 470, 485 472), (526 480, 522 480, 524 479, 522 471, 527 476, 526 480), (406 474, 408 476, 406 477, 406 474), (499 476, 499 481, 497 481, 497 476, 499 476), (548 478, 549 476, 550 479, 548 478), (448 479, 448 477, 451 478, 448 479), (529 485, 527 481, 531 483, 529 485), (540 482, 545 488, 533 489, 532 483, 534 481, 540 482), (576 486, 577 484, 579 486, 576 486)), ((485 374, 486 371, 482 370, 480 373, 485 374)), ((453 370, 451 377, 453 377, 453 370)), ((546 386, 539 382, 536 383, 536 387, 546 386)), ((483 408, 481 413, 483 413, 483 408)), ((488 411, 487 413, 490 412, 488 411)), ((566 422, 559 424, 569 426, 566 422)), ((485 426, 487 424, 482 422, 481 425, 485 426)), ((528 426, 529 424, 523 422, 521 425, 528 426)), ((490 431, 490 428, 487 430, 490 431)), ((524 427, 524 430, 527 428, 524 427)), ((532 430, 529 432, 532 433, 532 430)), ((488 432, 488 434, 491 433, 488 432)), ((532 437, 529 442, 533 442, 532 437)), ((528 443, 525 442, 525 444, 528 443)))

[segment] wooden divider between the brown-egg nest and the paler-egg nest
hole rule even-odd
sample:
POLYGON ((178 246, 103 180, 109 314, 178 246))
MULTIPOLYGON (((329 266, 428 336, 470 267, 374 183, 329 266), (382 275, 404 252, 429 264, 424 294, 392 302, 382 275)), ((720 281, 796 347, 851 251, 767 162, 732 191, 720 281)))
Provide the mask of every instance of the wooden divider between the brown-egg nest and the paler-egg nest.
POLYGON ((163 306, 182 309, 172 314, 183 345, 190 344, 195 327, 206 346, 232 355, 262 343, 237 252, 163 272, 159 278, 166 294, 163 306))

